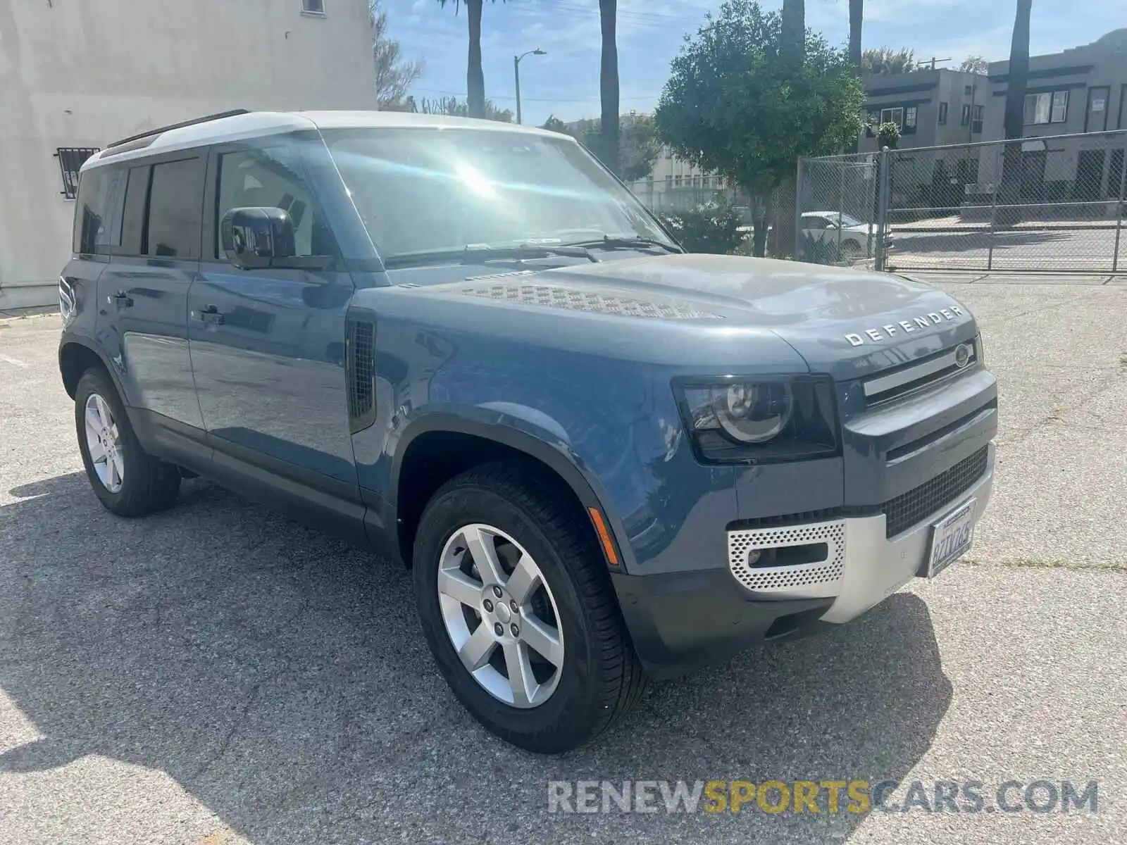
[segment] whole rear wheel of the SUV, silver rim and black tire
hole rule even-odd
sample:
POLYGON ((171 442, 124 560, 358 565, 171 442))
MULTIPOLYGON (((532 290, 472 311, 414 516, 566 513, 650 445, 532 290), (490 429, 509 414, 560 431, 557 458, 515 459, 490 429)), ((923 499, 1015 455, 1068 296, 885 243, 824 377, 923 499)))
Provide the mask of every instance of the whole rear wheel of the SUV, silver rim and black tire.
POLYGON ((176 501, 180 471, 141 447, 117 390, 100 367, 74 391, 74 426, 86 474, 101 504, 118 516, 143 516, 176 501))

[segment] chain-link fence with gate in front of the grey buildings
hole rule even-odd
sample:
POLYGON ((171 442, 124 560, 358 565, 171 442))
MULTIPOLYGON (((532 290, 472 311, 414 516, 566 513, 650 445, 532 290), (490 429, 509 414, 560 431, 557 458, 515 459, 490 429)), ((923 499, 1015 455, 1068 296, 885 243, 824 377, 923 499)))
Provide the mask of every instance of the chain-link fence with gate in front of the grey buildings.
POLYGON ((796 257, 876 269, 1127 272, 1127 131, 804 159, 796 257))

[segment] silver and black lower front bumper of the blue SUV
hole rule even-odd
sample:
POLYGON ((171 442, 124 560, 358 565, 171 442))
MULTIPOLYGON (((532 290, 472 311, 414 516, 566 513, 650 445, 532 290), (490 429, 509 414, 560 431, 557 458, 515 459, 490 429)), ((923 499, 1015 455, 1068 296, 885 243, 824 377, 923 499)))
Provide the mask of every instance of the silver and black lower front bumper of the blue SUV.
POLYGON ((975 499, 975 522, 990 502, 995 445, 986 469, 958 496, 887 536, 884 513, 728 532, 728 567, 654 576, 615 575, 614 586, 635 649, 656 677, 725 660, 765 640, 795 638, 849 622, 925 568, 931 527, 975 499), (753 569, 747 551, 787 543, 825 543, 819 560, 753 569))

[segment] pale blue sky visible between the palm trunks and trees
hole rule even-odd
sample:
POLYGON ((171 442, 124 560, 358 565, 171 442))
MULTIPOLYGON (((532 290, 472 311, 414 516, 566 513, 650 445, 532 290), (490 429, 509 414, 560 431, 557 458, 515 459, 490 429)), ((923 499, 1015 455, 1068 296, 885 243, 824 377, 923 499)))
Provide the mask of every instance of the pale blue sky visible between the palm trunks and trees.
MULTIPOLYGON (((465 10, 453 1, 383 0, 391 35, 426 68, 416 97, 465 96, 465 10)), ((762 0, 778 8, 781 0, 762 0)), ((622 110, 654 108, 682 36, 695 33, 720 0, 619 0, 619 73, 622 110)), ((911 47, 917 57, 1009 56, 1015 0, 866 0, 862 44, 911 47)), ((807 26, 832 44, 849 37, 848 0, 806 0, 807 26)), ((1088 44, 1127 26, 1127 0, 1033 0, 1031 51, 1053 53, 1088 44), (1082 11, 1081 11, 1082 10, 1082 11)), ((512 108, 513 55, 540 47, 544 56, 521 62, 524 123, 598 114, 597 0, 508 0, 486 3, 482 15, 486 96, 512 108)))

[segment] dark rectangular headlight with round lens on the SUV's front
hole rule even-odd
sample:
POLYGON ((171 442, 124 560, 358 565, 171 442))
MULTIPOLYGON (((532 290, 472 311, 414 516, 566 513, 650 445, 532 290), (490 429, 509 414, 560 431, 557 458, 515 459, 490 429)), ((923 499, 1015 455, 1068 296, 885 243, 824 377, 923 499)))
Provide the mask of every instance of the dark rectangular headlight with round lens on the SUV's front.
POLYGON ((740 379, 676 386, 685 427, 701 460, 760 463, 837 453, 828 379, 740 379))

